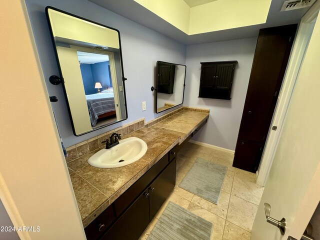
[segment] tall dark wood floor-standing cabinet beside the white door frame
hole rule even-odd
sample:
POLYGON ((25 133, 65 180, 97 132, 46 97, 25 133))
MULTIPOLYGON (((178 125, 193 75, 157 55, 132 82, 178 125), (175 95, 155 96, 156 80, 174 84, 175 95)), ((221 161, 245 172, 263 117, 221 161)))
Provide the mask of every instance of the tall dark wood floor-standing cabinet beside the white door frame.
POLYGON ((260 29, 233 166, 255 172, 281 87, 297 24, 260 29))

